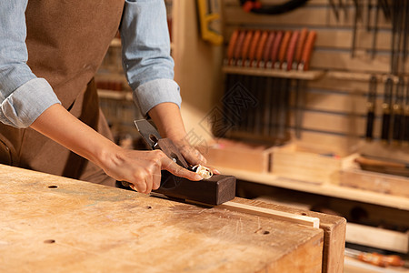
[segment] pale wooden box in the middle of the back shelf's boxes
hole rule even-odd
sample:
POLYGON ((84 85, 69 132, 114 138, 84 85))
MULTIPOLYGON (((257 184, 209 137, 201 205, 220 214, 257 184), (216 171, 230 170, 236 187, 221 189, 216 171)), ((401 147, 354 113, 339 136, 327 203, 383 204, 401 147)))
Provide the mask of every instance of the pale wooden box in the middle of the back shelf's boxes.
POLYGON ((339 181, 342 160, 329 152, 305 150, 290 144, 273 152, 273 174, 314 184, 339 181))

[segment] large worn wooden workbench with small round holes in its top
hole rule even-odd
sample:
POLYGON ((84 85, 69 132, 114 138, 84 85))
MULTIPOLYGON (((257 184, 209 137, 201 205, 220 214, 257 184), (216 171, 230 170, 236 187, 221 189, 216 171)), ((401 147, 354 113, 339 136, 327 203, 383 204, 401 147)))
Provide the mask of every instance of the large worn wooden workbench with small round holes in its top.
POLYGON ((1 272, 321 272, 323 229, 0 165, 1 272))

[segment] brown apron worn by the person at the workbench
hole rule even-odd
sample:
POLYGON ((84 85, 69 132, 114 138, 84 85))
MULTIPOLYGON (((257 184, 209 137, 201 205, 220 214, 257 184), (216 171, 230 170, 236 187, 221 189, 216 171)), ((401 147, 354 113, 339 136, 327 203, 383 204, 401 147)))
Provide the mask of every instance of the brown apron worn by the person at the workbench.
MULTIPOLYGON (((93 76, 118 30, 124 2, 29 0, 25 12, 28 66, 53 86, 71 114, 110 139, 93 76)), ((0 163, 115 186, 102 169, 31 128, 0 123, 0 163)))

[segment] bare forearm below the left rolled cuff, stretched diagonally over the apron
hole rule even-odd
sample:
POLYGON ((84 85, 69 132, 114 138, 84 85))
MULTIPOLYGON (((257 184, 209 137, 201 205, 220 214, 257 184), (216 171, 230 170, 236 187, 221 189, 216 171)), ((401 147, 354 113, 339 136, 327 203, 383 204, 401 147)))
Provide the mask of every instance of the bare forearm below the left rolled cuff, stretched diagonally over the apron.
POLYGON ((117 148, 58 104, 47 108, 30 127, 97 165, 110 160, 117 148))

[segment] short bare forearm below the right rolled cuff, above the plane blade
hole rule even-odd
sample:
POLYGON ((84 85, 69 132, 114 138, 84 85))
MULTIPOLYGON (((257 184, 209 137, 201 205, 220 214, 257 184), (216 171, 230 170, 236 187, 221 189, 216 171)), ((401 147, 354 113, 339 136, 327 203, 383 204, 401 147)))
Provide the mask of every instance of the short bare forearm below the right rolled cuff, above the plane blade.
POLYGON ((159 104, 153 107, 148 114, 154 120, 162 137, 181 140, 186 136, 179 106, 174 103, 159 104))

